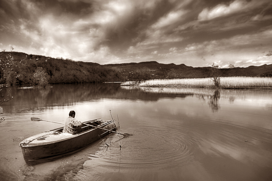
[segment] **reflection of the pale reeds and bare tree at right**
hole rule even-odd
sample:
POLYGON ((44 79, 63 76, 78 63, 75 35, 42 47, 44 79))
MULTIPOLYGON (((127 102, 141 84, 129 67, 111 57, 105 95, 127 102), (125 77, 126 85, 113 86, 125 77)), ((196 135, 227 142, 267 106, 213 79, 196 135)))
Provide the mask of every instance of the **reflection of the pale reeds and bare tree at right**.
POLYGON ((151 95, 160 95, 165 98, 176 98, 193 96, 197 99, 207 102, 212 112, 218 112, 220 109, 220 98, 228 99, 229 103, 247 102, 248 105, 261 104, 271 109, 272 99, 271 90, 250 90, 250 89, 206 89, 206 88, 152 88, 152 87, 131 87, 121 86, 126 90, 139 90, 140 92, 152 93, 151 95))

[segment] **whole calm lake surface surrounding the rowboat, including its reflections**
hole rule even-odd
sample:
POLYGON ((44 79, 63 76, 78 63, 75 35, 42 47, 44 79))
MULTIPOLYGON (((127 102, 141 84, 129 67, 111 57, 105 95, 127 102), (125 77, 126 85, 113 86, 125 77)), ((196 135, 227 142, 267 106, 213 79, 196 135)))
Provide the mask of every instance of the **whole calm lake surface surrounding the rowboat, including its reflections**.
MULTIPOLYGON (((272 180, 272 90, 131 88, 119 83, 10 90, 0 109, 0 180, 272 180), (55 161, 27 165, 19 143, 79 121, 120 132, 55 161), (111 114, 110 114, 111 110, 111 114), (109 145, 106 147, 105 143, 109 145)), ((7 91, 7 90, 4 90, 7 91)))

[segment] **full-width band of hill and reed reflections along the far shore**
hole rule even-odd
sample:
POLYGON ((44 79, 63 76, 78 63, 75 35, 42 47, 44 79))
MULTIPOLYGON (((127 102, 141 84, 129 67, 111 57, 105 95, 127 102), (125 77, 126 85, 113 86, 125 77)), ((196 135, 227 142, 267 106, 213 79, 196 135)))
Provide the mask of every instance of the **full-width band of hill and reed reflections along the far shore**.
MULTIPOLYGON (((8 89, 3 89, 3 93, 8 89)), ((14 97, 4 102, 3 112, 12 113, 33 111, 42 112, 44 108, 74 105, 78 102, 98 101, 100 99, 128 99, 157 101, 163 98, 186 98, 193 96, 207 101, 213 112, 220 109, 220 99, 228 99, 229 103, 236 99, 260 99, 271 103, 271 91, 267 90, 227 90, 204 88, 143 88, 120 86, 120 83, 87 83, 87 84, 57 84, 50 88, 18 89, 12 87, 10 95, 14 97), (261 99, 262 99, 261 97, 261 99)), ((271 108, 271 104, 267 103, 271 108)))

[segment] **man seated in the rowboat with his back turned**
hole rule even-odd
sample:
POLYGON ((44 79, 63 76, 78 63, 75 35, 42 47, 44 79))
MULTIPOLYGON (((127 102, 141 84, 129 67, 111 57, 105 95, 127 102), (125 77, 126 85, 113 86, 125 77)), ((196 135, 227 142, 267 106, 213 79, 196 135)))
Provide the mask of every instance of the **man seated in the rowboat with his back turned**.
POLYGON ((76 112, 70 111, 63 127, 63 133, 78 134, 81 132, 82 123, 75 119, 76 112))

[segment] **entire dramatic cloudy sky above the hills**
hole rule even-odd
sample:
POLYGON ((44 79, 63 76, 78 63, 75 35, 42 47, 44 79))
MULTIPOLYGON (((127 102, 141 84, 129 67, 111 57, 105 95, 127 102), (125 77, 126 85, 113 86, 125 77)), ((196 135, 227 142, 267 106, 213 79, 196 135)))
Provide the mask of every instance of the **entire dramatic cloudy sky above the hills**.
POLYGON ((0 0, 0 49, 99 64, 272 63, 271 0, 0 0))

